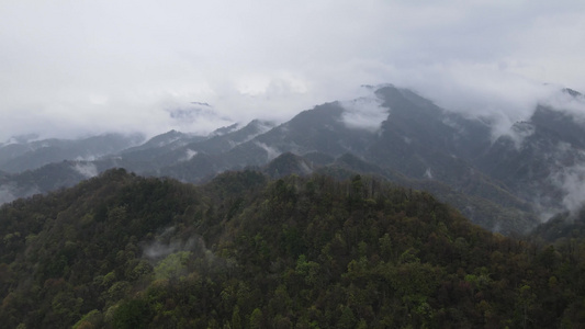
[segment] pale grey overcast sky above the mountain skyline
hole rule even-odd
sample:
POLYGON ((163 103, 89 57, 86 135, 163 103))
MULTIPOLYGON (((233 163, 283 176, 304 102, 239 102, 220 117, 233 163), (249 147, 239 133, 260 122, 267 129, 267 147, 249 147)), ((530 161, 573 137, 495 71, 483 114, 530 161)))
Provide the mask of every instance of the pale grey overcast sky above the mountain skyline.
POLYGON ((585 91, 584 54, 580 0, 0 0, 0 140, 283 121, 386 82, 516 120, 542 83, 585 91))

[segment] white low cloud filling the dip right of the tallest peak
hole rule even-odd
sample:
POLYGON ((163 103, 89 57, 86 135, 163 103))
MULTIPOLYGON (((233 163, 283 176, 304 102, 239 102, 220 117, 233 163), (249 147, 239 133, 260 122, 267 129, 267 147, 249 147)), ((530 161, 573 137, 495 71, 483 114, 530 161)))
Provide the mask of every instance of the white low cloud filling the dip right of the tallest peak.
POLYGON ((496 67, 453 64, 398 73, 402 86, 437 105, 492 126, 495 140, 511 135, 513 125, 528 121, 539 103, 561 92, 562 86, 537 82, 499 71, 496 67))

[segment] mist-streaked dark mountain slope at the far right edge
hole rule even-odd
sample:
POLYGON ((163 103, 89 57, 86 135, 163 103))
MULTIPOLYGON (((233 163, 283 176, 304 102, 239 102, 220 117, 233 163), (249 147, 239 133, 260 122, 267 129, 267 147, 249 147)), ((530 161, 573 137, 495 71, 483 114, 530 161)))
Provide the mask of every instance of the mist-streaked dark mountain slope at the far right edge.
POLYGON ((578 211, 585 201, 585 124, 563 111, 539 105, 474 162, 547 214, 578 211))

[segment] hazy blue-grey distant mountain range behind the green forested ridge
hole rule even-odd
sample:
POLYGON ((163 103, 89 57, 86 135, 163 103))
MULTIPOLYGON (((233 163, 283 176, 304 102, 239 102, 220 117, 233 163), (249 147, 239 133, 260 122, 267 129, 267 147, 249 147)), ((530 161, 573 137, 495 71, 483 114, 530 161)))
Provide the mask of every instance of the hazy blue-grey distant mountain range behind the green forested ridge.
MULTIPOLYGON (((257 120, 209 136, 171 131, 146 141, 135 135, 13 140, 0 145, 0 202, 115 167, 191 183, 250 167, 271 177, 368 173, 427 190, 503 232, 526 231, 585 201, 585 124, 572 112, 539 104, 530 118, 494 137, 488 121, 410 90, 367 89, 370 97, 317 105, 280 125, 257 120)), ((578 92, 562 92, 584 102, 578 92)))

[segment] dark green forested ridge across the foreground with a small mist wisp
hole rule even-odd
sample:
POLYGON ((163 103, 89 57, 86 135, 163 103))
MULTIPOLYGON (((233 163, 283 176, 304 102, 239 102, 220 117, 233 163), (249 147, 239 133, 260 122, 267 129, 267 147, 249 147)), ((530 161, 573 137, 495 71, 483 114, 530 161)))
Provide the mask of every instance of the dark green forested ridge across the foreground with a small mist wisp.
POLYGON ((0 207, 4 328, 584 328, 585 240, 370 177, 106 171, 0 207))

